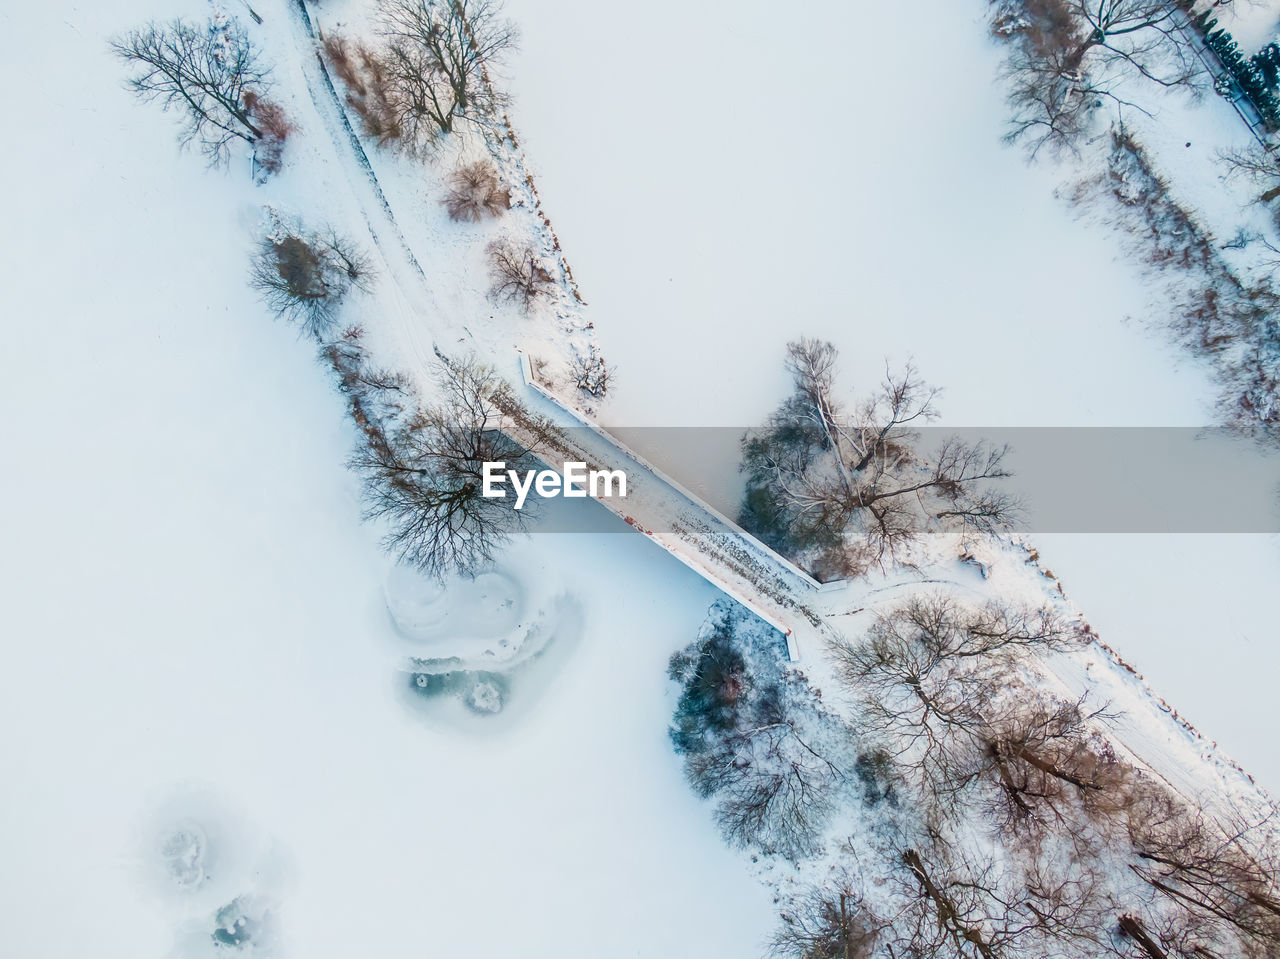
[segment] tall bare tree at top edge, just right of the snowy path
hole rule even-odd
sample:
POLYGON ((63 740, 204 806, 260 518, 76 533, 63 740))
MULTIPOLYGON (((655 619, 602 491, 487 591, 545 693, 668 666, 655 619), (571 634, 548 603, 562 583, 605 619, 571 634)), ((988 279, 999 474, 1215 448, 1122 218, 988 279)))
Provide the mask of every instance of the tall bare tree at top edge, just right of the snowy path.
POLYGON ((517 40, 499 0, 383 0, 380 13, 387 99, 407 143, 429 147, 458 119, 488 119, 497 95, 485 64, 517 40))

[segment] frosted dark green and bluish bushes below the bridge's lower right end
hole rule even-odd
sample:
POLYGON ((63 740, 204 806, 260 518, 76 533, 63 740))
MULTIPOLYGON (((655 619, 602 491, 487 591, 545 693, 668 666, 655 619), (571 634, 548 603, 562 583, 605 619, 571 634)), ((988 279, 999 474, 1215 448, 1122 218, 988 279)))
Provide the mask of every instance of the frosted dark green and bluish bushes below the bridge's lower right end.
POLYGON ((716 800, 732 845, 813 854, 845 781, 847 736, 813 689, 782 665, 782 635, 717 602, 696 641, 676 653, 671 727, 694 790, 716 800))

